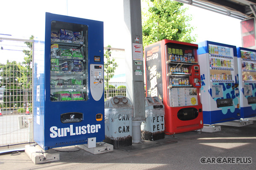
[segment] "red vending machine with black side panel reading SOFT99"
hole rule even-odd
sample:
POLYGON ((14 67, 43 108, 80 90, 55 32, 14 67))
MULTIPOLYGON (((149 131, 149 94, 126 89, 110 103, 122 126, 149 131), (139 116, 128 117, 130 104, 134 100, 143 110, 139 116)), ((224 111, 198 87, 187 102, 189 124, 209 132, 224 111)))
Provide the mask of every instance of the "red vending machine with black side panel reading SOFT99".
POLYGON ((165 107, 165 133, 203 128, 197 44, 161 40, 145 46, 146 95, 165 107))

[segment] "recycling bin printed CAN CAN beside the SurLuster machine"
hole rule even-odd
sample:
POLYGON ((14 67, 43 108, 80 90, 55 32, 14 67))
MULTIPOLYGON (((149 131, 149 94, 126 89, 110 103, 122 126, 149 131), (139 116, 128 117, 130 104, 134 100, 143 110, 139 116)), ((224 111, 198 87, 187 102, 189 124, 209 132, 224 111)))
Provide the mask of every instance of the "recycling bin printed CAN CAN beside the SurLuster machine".
POLYGON ((132 145, 132 116, 134 108, 131 101, 117 95, 105 101, 105 142, 114 148, 132 145))

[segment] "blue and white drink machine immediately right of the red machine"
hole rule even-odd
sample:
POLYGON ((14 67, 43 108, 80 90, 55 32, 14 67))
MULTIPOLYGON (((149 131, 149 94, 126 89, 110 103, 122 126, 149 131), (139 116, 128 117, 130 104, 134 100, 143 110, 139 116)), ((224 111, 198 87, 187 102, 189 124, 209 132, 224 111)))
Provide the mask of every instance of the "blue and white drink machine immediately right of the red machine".
POLYGON ((240 119, 236 46, 198 43, 204 124, 240 119))

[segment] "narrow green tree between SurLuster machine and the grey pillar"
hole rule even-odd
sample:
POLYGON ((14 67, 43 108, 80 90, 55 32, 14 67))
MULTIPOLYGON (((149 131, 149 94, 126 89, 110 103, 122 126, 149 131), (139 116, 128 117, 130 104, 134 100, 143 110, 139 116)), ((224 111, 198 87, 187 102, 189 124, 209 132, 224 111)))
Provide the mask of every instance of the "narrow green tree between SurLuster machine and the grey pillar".
MULTIPOLYGON (((111 48, 110 45, 108 45, 109 48, 111 48)), ((109 98, 109 80, 113 78, 115 74, 115 70, 117 67, 117 63, 115 62, 115 59, 111 57, 111 49, 107 49, 104 54, 104 81, 105 81, 105 89, 106 89, 106 98, 109 98)))

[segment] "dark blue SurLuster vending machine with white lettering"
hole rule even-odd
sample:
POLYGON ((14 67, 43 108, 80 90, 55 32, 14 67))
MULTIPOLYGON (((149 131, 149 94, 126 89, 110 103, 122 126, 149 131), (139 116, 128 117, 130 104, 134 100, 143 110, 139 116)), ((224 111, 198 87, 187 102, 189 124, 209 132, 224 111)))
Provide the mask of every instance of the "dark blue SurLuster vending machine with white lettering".
POLYGON ((34 140, 44 150, 105 138, 103 22, 46 13, 35 56, 34 140))

